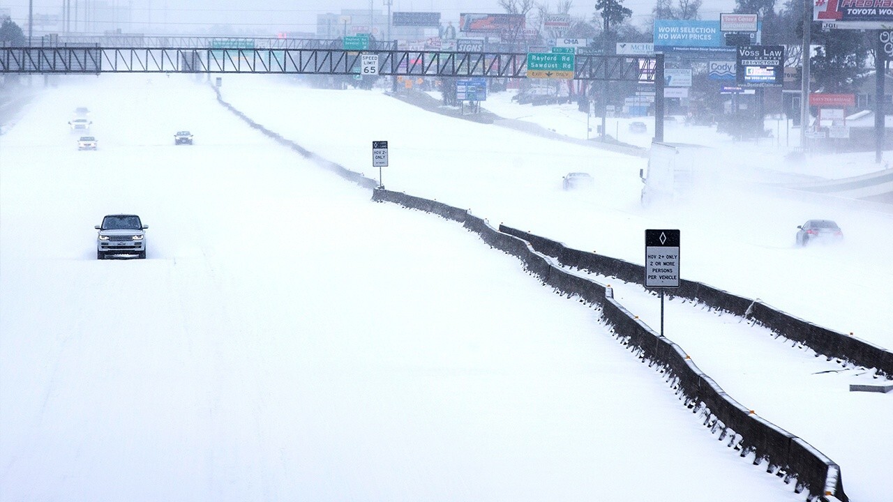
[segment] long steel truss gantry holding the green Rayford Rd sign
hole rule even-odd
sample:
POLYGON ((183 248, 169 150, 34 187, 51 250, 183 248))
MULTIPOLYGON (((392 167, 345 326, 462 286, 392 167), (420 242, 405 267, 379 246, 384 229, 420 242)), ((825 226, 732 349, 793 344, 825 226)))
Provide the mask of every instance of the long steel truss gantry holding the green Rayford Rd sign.
MULTIPOLYGON (((527 54, 196 47, 0 47, 0 73, 353 75, 377 54, 387 76, 525 78, 527 54)), ((655 82, 659 56, 577 55, 573 78, 655 82)))

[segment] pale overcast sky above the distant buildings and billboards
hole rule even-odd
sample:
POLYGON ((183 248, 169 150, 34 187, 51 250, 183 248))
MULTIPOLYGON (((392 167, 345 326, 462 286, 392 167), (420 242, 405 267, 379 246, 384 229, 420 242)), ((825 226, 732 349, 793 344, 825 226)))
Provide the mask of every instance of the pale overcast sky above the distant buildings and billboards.
MULTIPOLYGON (((501 13, 497 0, 392 0, 391 11, 439 12, 443 21, 458 21, 459 13, 501 13)), ((556 0, 543 0, 555 9, 556 0)), ((370 5, 375 11, 386 13, 384 0, 71 0, 79 5, 79 19, 83 19, 85 4, 107 4, 132 10, 131 32, 204 32, 215 24, 230 24, 236 29, 259 29, 274 34, 278 31, 316 30, 316 15, 340 13, 342 9, 363 9, 370 5), (167 26, 168 29, 164 29, 167 26)), ((575 1, 574 16, 591 19, 596 0, 575 1)), ((34 0, 34 13, 62 13, 63 0, 34 0)), ((641 24, 651 15, 655 0, 625 0, 632 9, 633 22, 641 24)), ((701 8, 702 19, 719 19, 719 13, 730 12, 734 0, 705 0, 701 8)), ((25 28, 28 19, 28 0, 0 0, 0 10, 9 9, 13 21, 25 28)), ((122 19, 123 15, 119 16, 122 19)), ((98 18, 97 18, 98 19, 98 18)), ((109 22, 108 24, 111 24, 109 22)), ((113 26, 103 29, 113 29, 113 26)), ((100 29, 102 31, 103 29, 100 29)), ((51 27, 47 30, 58 31, 51 27)), ((27 31, 27 29, 26 29, 27 31)), ((41 31, 35 23, 35 34, 41 31)))

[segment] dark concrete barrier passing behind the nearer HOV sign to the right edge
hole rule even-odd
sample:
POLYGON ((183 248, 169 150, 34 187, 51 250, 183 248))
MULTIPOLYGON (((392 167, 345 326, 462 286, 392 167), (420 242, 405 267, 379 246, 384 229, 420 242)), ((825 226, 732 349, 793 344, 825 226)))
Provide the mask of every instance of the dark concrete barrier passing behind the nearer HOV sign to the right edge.
MULTIPOLYGON (((642 265, 565 247, 560 242, 505 225, 499 225, 499 230, 530 242, 538 252, 555 257, 563 265, 644 285, 645 267, 642 265)), ((680 288, 670 294, 673 297, 688 298, 723 312, 751 319, 772 330, 776 335, 812 348, 817 355, 825 356, 829 361, 839 359, 841 362, 845 361, 856 366, 873 368, 878 374, 893 379, 893 352, 863 339, 822 328, 765 305, 759 300, 739 297, 694 280, 680 280, 680 288)))

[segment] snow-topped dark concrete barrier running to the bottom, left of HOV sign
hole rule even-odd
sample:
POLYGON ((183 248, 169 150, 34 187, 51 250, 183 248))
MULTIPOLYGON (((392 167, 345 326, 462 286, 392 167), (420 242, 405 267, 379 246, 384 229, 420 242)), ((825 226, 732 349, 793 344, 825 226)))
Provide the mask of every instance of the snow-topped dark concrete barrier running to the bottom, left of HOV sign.
MULTIPOLYGON (((728 447, 739 450, 739 455, 752 459, 753 464, 766 464, 766 472, 776 474, 786 483, 794 482, 794 490, 797 493, 806 490, 809 500, 848 500, 838 464, 803 439, 764 420, 729 397, 713 379, 697 368, 681 347, 655 333, 614 301, 612 289, 565 270, 549 257, 553 256, 561 262, 559 256, 580 254, 580 251, 568 250, 555 241, 542 238, 539 238, 538 245, 534 245, 526 238, 506 232, 502 225, 497 230, 486 220, 463 209, 421 197, 379 188, 372 192, 372 200, 395 203, 461 222, 491 247, 521 259, 528 272, 555 291, 600 306, 602 319, 611 326, 614 336, 649 366, 663 373, 665 381, 671 384, 677 396, 693 413, 704 418, 705 426, 717 434, 719 440, 728 440, 728 447), (551 252, 544 252, 543 248, 551 252)), ((605 260, 605 263, 612 260, 605 256, 597 256, 597 259, 605 260)), ((631 279, 631 273, 636 271, 638 265, 622 264, 625 265, 622 265, 621 273, 631 279)), ((642 272, 638 272, 638 279, 641 277, 642 272)), ((741 299, 745 310, 748 301, 741 299)))

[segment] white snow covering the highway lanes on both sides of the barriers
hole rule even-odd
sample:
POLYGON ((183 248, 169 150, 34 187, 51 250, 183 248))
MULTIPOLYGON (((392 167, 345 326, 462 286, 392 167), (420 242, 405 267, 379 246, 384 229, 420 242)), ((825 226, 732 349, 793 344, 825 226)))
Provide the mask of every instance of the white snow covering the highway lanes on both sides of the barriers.
MULTIPOLYGON (((638 209, 642 159, 377 93, 223 85, 256 121, 348 168, 373 175, 370 142, 387 139, 388 188, 491 222, 620 257, 638 258, 647 225, 683 223, 689 247, 729 237, 703 206, 638 209), (597 189, 564 193, 569 171, 592 173, 597 189)), ((792 238, 788 226, 767 234, 792 238)), ((47 89, 0 137, 0 229, 0 500, 803 499, 710 436, 597 312, 453 222, 372 203, 188 79, 47 89), (76 151, 66 130, 79 105, 94 111, 96 152, 76 151), (183 129, 195 146, 172 145, 183 129), (150 225, 148 259, 96 261, 92 225, 115 212, 150 225)), ((889 298, 883 269, 861 275, 882 260, 860 251, 858 233, 852 246, 802 253, 753 253, 755 239, 683 248, 683 275, 741 294, 774 289, 771 303, 788 308, 832 297, 833 322, 889 298), (721 256, 732 270, 711 274, 705 256, 736 247, 721 256), (780 287, 795 253, 843 268, 829 280, 847 279, 844 294, 858 284, 857 298, 780 287), (851 257, 864 263, 843 266, 851 257), (759 267, 762 280, 743 280, 759 267)), ((882 312, 864 320, 877 338, 882 312)), ((695 359, 707 367, 719 350, 695 359)), ((780 417, 810 414, 801 404, 780 417)), ((889 493, 824 453, 854 500, 889 493)))

